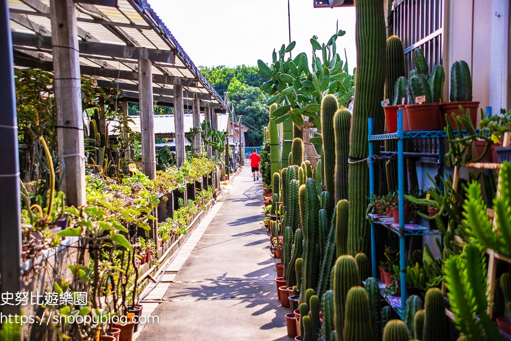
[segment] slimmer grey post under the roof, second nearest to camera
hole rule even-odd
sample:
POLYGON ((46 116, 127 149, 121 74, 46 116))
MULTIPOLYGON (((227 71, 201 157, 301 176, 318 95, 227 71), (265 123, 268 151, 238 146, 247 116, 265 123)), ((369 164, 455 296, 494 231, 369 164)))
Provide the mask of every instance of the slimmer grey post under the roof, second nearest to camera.
POLYGON ((154 108, 151 61, 138 60, 138 92, 140 93, 140 132, 142 138, 142 167, 150 179, 156 178, 154 147, 154 108))

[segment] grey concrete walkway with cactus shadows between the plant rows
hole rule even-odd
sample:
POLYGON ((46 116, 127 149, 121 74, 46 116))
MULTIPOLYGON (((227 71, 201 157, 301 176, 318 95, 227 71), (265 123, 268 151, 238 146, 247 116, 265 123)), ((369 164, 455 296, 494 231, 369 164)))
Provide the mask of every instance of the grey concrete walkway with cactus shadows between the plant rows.
POLYGON ((291 311, 277 300, 262 224, 261 180, 253 182, 245 166, 229 187, 207 228, 190 236, 195 247, 170 265, 177 275, 152 313, 159 323, 146 325, 137 341, 291 340, 284 317, 291 311))

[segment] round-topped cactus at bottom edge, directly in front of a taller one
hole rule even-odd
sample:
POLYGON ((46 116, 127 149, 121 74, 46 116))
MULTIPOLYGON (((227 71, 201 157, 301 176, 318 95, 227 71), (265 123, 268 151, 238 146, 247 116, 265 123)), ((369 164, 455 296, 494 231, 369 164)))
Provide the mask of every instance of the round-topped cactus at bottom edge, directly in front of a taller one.
POLYGON ((369 297, 364 288, 352 287, 346 297, 343 341, 371 341, 371 314, 369 312, 369 297))

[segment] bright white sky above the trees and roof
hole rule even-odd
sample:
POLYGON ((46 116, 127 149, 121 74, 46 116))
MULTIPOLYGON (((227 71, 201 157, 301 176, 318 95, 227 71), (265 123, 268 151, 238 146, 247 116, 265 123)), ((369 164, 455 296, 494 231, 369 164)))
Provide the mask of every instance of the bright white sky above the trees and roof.
MULTIPOLYGON (((271 63, 273 49, 289 43, 287 0, 148 0, 196 65, 257 65, 271 63)), ((355 8, 313 8, 313 0, 290 0, 293 56, 311 56, 310 39, 326 43, 339 30, 337 51, 356 65, 355 8)))

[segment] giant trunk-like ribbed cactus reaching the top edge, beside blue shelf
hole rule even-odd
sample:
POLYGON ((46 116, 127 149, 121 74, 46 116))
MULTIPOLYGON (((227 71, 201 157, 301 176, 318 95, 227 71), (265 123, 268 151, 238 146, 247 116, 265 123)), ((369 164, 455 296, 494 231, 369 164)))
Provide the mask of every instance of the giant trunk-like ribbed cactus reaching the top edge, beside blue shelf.
MULTIPOLYGON (((357 75, 354 111, 350 131, 350 158, 364 160, 369 154, 367 119, 382 121, 381 100, 385 86, 386 33, 384 6, 379 1, 357 0, 355 38, 357 75)), ((378 133, 378 129, 375 131, 378 133)), ((350 218, 348 220, 348 254, 355 256, 368 247, 366 219, 369 193, 369 169, 365 162, 349 166, 350 218)))

